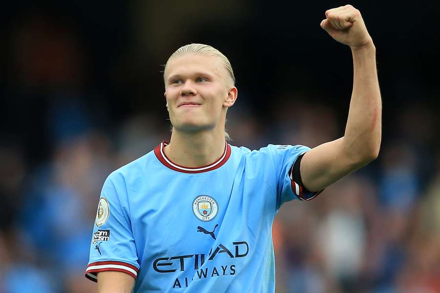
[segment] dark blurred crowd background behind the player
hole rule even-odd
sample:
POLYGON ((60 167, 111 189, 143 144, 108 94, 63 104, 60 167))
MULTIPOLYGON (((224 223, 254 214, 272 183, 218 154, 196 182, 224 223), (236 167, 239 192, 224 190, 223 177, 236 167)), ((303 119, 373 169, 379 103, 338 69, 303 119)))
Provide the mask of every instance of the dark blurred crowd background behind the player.
MULTIPOLYGON (((346 2, 38 2, 1 11, 0 293, 96 292, 84 273, 102 184, 169 140, 162 65, 181 45, 230 59, 231 144, 344 134, 351 52, 319 24, 346 2)), ((377 50, 381 151, 282 207, 277 293, 438 293, 439 1, 350 3, 377 50)))

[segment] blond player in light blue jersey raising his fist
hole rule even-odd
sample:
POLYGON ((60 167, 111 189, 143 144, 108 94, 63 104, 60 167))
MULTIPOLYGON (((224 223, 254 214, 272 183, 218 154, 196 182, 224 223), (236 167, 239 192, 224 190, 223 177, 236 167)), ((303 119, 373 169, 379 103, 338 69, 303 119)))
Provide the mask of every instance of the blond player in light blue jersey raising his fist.
POLYGON ((362 17, 346 5, 328 10, 321 26, 351 47, 354 83, 344 137, 313 149, 230 146, 224 123, 238 91, 227 58, 202 44, 170 57, 170 143, 104 183, 86 271, 98 292, 275 291, 271 228, 280 206, 313 198, 379 152, 375 48, 362 17))

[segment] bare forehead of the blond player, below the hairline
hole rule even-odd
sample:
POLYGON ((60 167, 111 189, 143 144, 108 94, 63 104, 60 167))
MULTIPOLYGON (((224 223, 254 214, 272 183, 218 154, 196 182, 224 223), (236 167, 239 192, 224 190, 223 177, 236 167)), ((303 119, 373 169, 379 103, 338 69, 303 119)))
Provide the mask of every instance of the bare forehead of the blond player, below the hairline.
POLYGON ((165 79, 173 75, 190 75, 193 73, 208 73, 216 77, 225 74, 220 59, 215 56, 182 55, 171 59, 165 71, 165 79))

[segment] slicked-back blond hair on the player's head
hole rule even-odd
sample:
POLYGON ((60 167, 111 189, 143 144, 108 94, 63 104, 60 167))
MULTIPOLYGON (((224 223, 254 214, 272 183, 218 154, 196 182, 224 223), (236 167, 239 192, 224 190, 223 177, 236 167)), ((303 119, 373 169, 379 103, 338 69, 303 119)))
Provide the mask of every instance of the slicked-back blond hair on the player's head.
POLYGON ((226 58, 226 56, 224 56, 219 50, 217 50, 216 48, 214 48, 210 45, 197 44, 197 43, 192 43, 192 44, 181 46, 180 48, 178 48, 176 50, 176 52, 174 52, 170 56, 170 58, 168 58, 168 61, 165 64, 165 69, 163 71, 164 79, 165 79, 165 72, 167 71, 167 66, 168 66, 168 63, 170 62, 170 60, 172 60, 173 58, 175 58, 177 56, 188 55, 188 54, 217 57, 220 60, 220 63, 224 66, 224 68, 229 73, 229 77, 231 78, 232 85, 235 85, 234 71, 232 70, 231 63, 226 58))

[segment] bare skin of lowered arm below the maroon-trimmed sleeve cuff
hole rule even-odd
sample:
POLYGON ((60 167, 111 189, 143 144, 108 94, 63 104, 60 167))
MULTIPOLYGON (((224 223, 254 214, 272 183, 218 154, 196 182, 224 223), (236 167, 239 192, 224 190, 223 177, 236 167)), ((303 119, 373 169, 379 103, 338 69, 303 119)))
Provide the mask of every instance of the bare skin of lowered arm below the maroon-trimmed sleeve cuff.
POLYGON ((131 293, 134 278, 125 272, 99 272, 98 293, 131 293))

